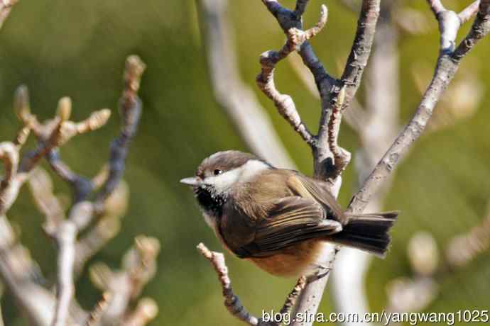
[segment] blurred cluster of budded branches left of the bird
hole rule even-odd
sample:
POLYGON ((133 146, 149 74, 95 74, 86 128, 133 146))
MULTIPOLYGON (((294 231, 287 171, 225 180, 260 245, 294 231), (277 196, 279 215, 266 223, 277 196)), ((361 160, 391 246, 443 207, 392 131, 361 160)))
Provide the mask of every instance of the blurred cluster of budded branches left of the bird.
MULTIPOLYGON (((10 7, 15 3, 14 0, 1 2, 0 26, 8 16, 10 7)), ((129 57, 126 62, 125 87, 121 98, 123 128, 120 137, 111 147, 109 175, 106 177, 103 170, 94 181, 72 172, 70 167, 61 161, 58 147, 75 135, 102 127, 107 122, 110 111, 107 109, 96 111, 86 120, 75 123, 69 120, 71 100, 62 98, 58 103, 56 116, 39 123, 36 116, 31 113, 27 88, 21 86, 16 91, 14 109, 24 127, 13 142, 0 143, 0 159, 5 166, 5 176, 0 183, 0 277, 31 325, 61 326, 75 325, 75 323, 80 325, 80 320, 87 320, 87 313, 73 299, 74 269, 75 267, 81 269, 88 257, 99 249, 108 237, 114 235, 114 232, 87 232, 82 242, 78 243, 77 234, 87 227, 95 213, 104 213, 104 218, 97 225, 100 228, 107 226, 110 218, 119 218, 126 211, 126 203, 121 204, 121 201, 126 201, 127 196, 121 196, 121 191, 114 190, 125 189, 124 184, 120 184, 119 181, 124 172, 128 142, 136 132, 141 113, 141 101, 136 92, 143 70, 144 64, 138 57, 129 57), (38 145, 35 150, 20 159, 19 152, 30 130, 36 136, 38 145), (58 198, 53 194, 53 184, 48 174, 42 169, 34 170, 43 157, 48 159, 54 172, 73 188, 75 203, 67 219, 58 198), (46 216, 45 232, 58 244, 58 300, 50 291, 38 284, 42 277, 38 266, 29 257, 28 250, 16 242, 16 235, 5 216, 26 181, 29 181, 38 208, 46 216), (104 187, 96 198, 97 206, 85 201, 89 193, 101 184, 104 184, 104 187), (99 208, 97 212, 95 207, 99 208), (106 224, 104 225, 103 222, 106 224), (80 248, 84 248, 85 252, 80 248), (77 253, 77 250, 80 250, 80 253, 77 253)), ((122 193, 127 195, 127 191, 122 193)), ((141 237, 136 239, 135 247, 126 255, 124 262, 126 269, 124 278, 130 283, 130 286, 126 286, 130 290, 129 299, 136 298, 143 285, 155 274, 155 258, 159 249, 158 240, 141 237)), ((126 305, 129 299, 125 301, 126 305)), ((122 313, 127 312, 126 320, 123 320, 122 314, 118 316, 119 320, 123 325, 146 325, 156 315, 156 308, 153 305, 153 310, 149 309, 148 302, 148 300, 141 300, 133 312, 129 312, 126 305, 119 305, 118 307, 123 309, 122 313)), ((1 318, 0 323, 3 324, 1 318)))

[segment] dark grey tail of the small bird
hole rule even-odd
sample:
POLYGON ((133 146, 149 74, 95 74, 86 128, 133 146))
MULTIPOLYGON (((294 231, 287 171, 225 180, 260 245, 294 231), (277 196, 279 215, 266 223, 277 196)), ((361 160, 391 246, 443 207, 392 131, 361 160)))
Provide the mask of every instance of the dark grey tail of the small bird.
POLYGON ((330 236, 331 241, 384 258, 391 242, 388 231, 395 223, 398 213, 393 211, 347 215, 349 222, 341 232, 330 236))

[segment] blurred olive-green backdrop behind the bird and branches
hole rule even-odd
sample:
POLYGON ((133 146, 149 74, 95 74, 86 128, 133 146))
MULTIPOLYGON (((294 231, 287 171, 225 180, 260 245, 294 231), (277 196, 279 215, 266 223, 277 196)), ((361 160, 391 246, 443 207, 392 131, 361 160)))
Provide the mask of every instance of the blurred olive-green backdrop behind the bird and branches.
MULTIPOLYGON (((279 48, 283 33, 261 1, 230 2, 241 75, 256 91, 298 167, 310 174, 309 149, 254 84, 258 55, 279 48)), ((445 2, 457 9, 471 1, 445 2)), ((293 6, 294 1, 283 3, 293 6)), ((310 1, 307 26, 316 22, 321 3, 310 1)), ((356 14, 337 1, 327 5, 327 28, 312 43, 327 69, 338 74, 337 62, 344 62, 352 43, 356 14)), ((401 84, 401 123, 410 118, 420 100, 413 74, 428 83, 438 45, 437 24, 425 1, 408 1, 405 6, 427 17, 428 32, 413 35, 402 30, 400 34, 401 79, 394 82, 401 84)), ((71 96, 72 116, 81 120, 97 108, 109 107, 116 112, 127 55, 138 54, 148 65, 140 93, 143 118, 131 144, 125 176, 131 187, 129 212, 119 235, 93 260, 119 266, 136 235, 158 237, 162 244, 158 274, 144 291, 160 308, 151 325, 169 321, 177 326, 240 325, 223 307, 216 275, 195 249, 197 243, 205 242, 209 248, 221 250, 219 242, 201 218, 192 192, 178 183, 193 174, 201 159, 212 152, 247 150, 214 100, 202 43, 197 6, 190 0, 23 0, 0 32, 1 140, 10 140, 19 127, 12 110, 13 91, 19 84, 28 85, 38 117, 49 118, 58 99, 71 96)), ((490 198, 490 111, 486 110, 490 103, 485 96, 490 92, 489 51, 490 39, 486 39, 460 69, 478 80, 484 96, 452 125, 422 137, 396 171, 385 206, 403 213, 393 230, 391 253, 371 264, 366 284, 371 310, 386 306, 389 281, 413 276, 407 245, 415 232, 430 232, 444 249, 454 235, 478 225, 486 216, 490 198)), ((281 64, 276 80, 281 91, 293 96, 305 123, 315 129, 319 103, 288 64, 281 64)), ((363 99, 363 89, 359 99, 363 99)), ((96 174, 107 160, 118 119, 114 114, 102 130, 72 140, 62 149, 65 160, 78 172, 96 174)), ((352 152, 359 147, 356 133, 347 125, 342 126, 340 143, 352 152)), ((339 196, 343 206, 356 190, 353 165, 344 173, 339 196)), ((59 180, 56 188, 69 193, 59 180)), ((43 216, 34 207, 27 187, 9 211, 9 218, 21 228, 21 240, 43 272, 53 278, 54 245, 43 234, 43 216)), ((467 266, 442 277, 437 298, 425 310, 488 309, 489 258, 489 252, 483 252, 467 266)), ((236 293, 256 314, 263 308, 278 309, 294 283, 268 276, 229 254, 227 262, 236 293)), ((88 277, 82 277, 77 284, 82 305, 92 307, 99 296, 88 277)), ((26 325, 8 293, 2 299, 2 309, 6 325, 26 325)), ((331 310, 326 294, 320 311, 331 310)))

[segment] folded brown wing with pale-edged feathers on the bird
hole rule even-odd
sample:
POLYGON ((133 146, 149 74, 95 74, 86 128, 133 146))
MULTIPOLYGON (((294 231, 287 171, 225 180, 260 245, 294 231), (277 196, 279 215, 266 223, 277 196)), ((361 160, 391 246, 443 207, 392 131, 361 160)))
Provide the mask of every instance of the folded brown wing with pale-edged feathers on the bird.
POLYGON ((239 257, 267 257, 295 243, 339 232, 342 225, 328 219, 317 201, 290 196, 271 203, 267 218, 255 230, 254 240, 234 250, 239 257))

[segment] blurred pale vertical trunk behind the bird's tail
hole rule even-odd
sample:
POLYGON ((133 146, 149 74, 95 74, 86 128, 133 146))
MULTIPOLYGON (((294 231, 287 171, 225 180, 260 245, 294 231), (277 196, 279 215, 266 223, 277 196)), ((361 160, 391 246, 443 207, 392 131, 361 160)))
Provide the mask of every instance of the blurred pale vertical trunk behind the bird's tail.
MULTIPOLYGON (((393 16, 397 9, 393 1, 381 5, 380 20, 376 28, 369 67, 364 74, 365 109, 354 113, 360 119, 356 124, 361 147, 356 150, 354 167, 359 185, 372 171, 398 133, 398 112, 400 111, 398 69, 398 30, 393 16)), ((354 103, 352 104, 354 106, 354 103)), ((351 106, 345 113, 352 112, 351 106)), ((346 119, 347 120, 347 119, 346 119)), ((366 211, 379 212, 391 186, 391 178, 383 184, 383 189, 371 198, 366 211)), ((330 280, 332 301, 337 311, 364 314, 369 312, 366 293, 366 278, 373 258, 360 250, 342 248, 335 262, 330 280)), ((342 322, 344 326, 357 325, 356 322, 342 322)), ((366 326, 373 325, 368 323, 366 326)))

